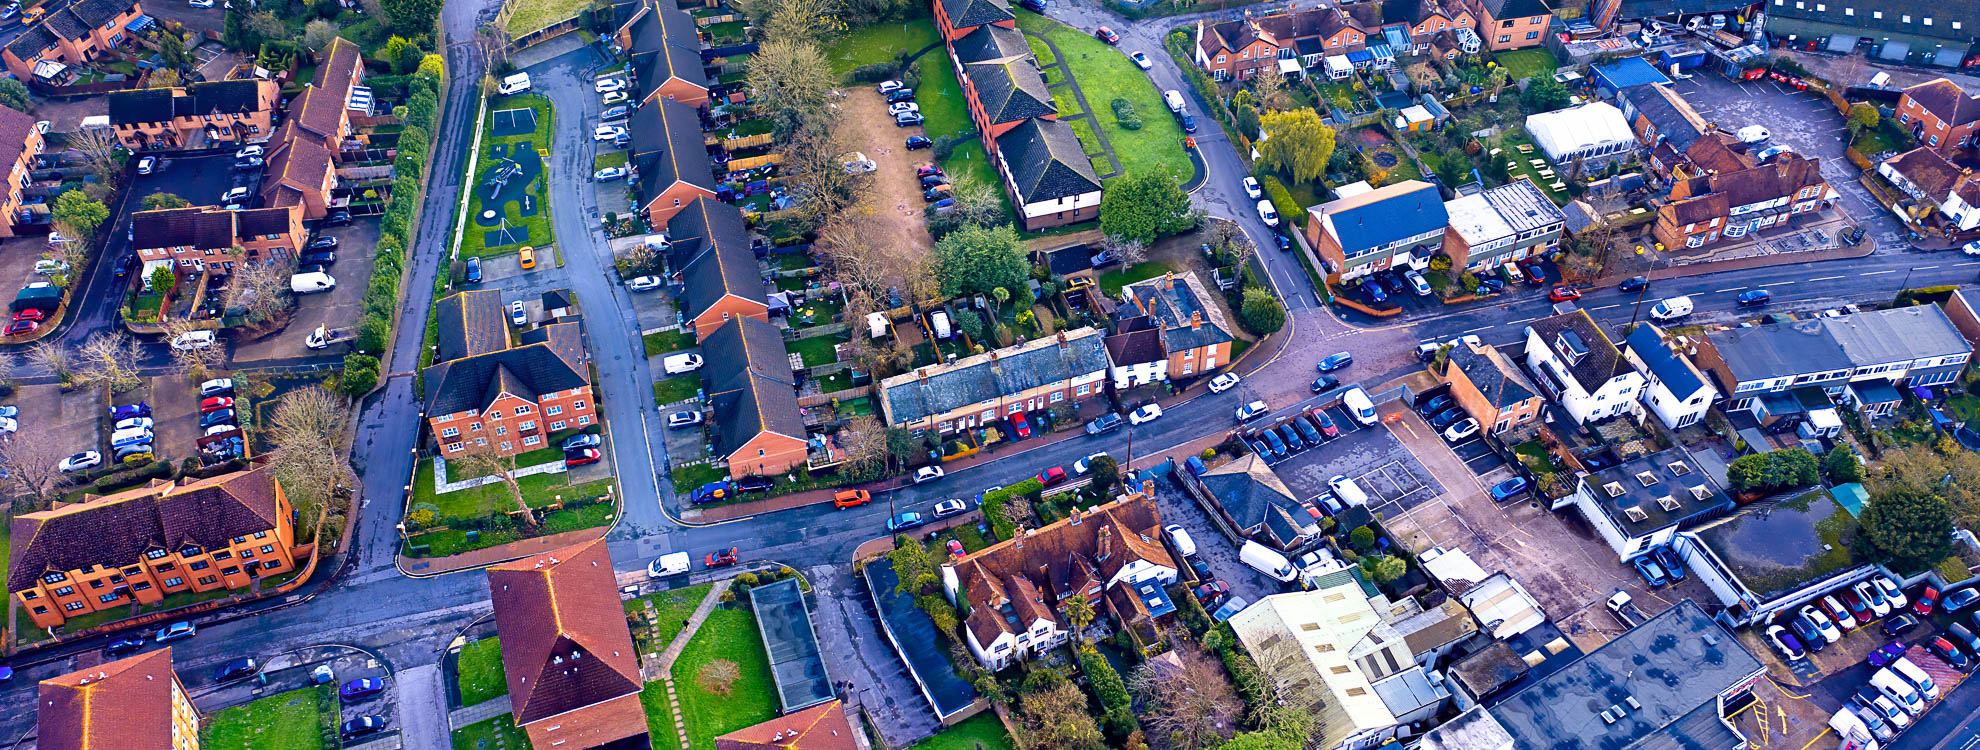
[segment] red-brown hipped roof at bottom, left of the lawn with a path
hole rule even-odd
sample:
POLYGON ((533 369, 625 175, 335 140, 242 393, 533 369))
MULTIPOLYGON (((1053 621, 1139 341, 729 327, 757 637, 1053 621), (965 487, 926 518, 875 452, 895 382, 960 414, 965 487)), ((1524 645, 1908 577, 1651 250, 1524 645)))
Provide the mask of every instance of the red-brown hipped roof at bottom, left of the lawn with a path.
POLYGON ((602 538, 489 568, 489 598, 519 724, 640 693, 602 538))

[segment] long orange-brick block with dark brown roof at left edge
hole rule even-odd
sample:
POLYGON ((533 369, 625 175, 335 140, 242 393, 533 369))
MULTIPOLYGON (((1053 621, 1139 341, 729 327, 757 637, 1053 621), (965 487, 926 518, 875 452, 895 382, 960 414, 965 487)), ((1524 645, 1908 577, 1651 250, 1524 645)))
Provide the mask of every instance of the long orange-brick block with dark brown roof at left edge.
POLYGON ((186 592, 244 590, 315 554, 275 475, 154 481, 14 516, 8 590, 36 627, 186 592))

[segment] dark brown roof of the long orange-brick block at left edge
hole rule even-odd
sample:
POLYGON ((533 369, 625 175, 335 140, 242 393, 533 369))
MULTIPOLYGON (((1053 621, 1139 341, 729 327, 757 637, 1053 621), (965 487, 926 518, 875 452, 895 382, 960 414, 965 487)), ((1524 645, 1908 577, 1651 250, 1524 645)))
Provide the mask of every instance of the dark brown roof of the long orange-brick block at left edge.
POLYGON ((8 588, 30 590, 50 572, 131 564, 145 550, 220 548, 273 530, 281 520, 277 493, 275 475, 255 469, 186 485, 158 481, 14 516, 8 588))

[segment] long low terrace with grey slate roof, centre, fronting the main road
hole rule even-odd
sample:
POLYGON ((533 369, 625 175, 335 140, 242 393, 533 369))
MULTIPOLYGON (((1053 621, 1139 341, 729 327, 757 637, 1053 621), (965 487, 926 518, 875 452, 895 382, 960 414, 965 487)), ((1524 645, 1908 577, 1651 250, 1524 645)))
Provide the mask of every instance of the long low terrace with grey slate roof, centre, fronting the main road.
POLYGON ((964 356, 879 384, 887 425, 948 433, 1020 412, 1077 404, 1107 390, 1107 344, 1097 328, 964 356))

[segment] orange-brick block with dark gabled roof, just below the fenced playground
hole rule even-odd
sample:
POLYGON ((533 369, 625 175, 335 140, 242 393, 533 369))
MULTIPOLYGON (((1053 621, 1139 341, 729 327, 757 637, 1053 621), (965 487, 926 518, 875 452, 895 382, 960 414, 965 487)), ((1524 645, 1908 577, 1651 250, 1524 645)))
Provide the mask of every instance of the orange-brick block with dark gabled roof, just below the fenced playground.
POLYGON ((495 289, 455 293, 436 307, 434 366, 420 380, 442 457, 535 451, 550 433, 598 418, 578 323, 552 323, 511 340, 495 289))

